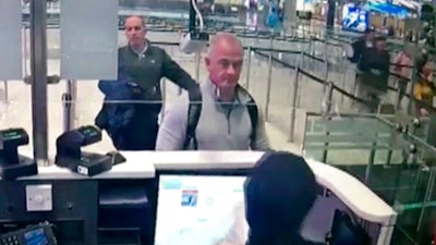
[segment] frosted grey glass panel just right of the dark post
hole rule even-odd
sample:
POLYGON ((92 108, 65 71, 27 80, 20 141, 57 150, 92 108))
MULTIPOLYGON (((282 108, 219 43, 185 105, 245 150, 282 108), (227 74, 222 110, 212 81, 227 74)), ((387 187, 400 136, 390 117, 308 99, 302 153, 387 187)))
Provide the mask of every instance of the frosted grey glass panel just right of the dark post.
POLYGON ((61 11, 62 78, 116 79, 118 1, 63 0, 61 11))

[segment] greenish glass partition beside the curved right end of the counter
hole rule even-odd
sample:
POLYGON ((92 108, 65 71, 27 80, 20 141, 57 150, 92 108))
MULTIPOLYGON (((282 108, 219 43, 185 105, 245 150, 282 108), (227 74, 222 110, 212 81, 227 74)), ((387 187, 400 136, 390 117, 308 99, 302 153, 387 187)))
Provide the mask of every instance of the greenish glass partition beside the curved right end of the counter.
POLYGON ((436 198, 436 149, 414 135, 428 134, 426 124, 410 115, 306 113, 303 152, 367 184, 398 211, 395 236, 423 244, 433 234, 436 198))

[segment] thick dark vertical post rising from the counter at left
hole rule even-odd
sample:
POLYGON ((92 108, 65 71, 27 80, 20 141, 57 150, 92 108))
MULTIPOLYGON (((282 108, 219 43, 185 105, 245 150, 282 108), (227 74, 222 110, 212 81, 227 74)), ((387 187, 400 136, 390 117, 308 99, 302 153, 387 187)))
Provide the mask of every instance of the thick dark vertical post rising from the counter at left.
POLYGON ((34 159, 48 164, 47 136, 47 1, 31 1, 31 79, 34 159))

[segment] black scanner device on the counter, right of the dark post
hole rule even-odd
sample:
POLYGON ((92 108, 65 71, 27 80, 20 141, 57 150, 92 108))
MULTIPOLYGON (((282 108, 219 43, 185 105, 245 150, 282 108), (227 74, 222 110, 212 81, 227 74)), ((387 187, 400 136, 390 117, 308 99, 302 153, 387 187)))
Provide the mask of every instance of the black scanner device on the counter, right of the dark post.
POLYGON ((120 161, 119 157, 113 157, 114 154, 84 152, 81 149, 100 140, 101 131, 96 126, 81 126, 76 130, 68 131, 56 140, 57 155, 55 163, 87 176, 108 171, 112 166, 119 163, 116 162, 116 160, 120 161))

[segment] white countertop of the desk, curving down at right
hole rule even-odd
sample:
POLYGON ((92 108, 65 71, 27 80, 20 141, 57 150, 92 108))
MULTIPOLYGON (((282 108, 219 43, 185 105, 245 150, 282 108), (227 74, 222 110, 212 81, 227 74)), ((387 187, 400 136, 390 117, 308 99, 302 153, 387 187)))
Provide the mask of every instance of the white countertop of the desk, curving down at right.
MULTIPOLYGON (((123 151, 126 162, 92 179, 148 179, 159 170, 249 169, 264 155, 259 151, 123 151)), ((317 182, 331 191, 354 213, 370 222, 395 224, 397 213, 352 175, 331 166, 306 160, 317 182)), ((89 179, 57 166, 39 167, 39 174, 20 180, 89 179)))

